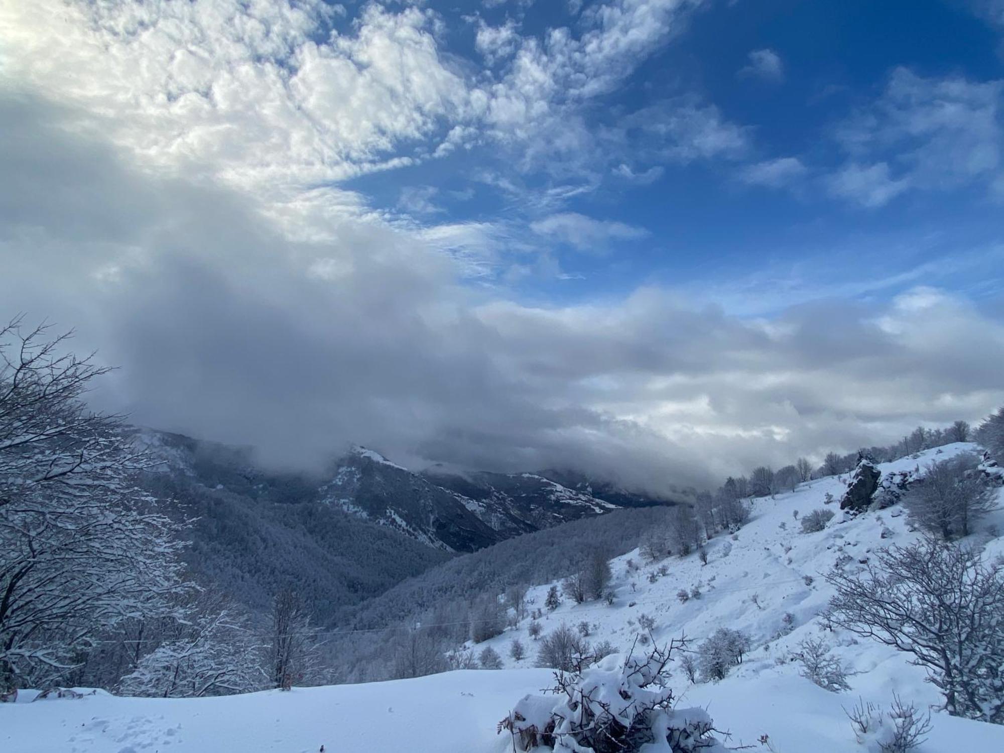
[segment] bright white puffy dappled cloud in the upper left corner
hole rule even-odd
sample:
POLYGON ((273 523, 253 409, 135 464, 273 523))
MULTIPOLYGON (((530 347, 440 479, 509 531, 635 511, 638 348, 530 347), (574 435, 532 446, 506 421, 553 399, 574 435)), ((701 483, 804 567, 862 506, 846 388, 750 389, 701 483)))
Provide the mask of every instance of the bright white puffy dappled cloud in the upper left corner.
POLYGON ((5 4, 3 75, 153 166, 257 190, 409 164, 399 145, 469 113, 429 12, 370 5, 353 34, 328 37, 333 13, 320 0, 5 4))

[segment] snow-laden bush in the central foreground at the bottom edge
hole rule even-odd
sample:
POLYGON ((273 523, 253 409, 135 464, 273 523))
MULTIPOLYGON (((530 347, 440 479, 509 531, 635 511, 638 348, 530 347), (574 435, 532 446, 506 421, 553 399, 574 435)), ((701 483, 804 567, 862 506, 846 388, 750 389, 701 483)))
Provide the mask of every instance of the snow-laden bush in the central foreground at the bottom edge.
POLYGON ((703 709, 675 709, 667 685, 674 642, 644 659, 608 656, 573 673, 556 673, 551 695, 521 699, 498 726, 513 748, 575 753, 724 753, 703 709))

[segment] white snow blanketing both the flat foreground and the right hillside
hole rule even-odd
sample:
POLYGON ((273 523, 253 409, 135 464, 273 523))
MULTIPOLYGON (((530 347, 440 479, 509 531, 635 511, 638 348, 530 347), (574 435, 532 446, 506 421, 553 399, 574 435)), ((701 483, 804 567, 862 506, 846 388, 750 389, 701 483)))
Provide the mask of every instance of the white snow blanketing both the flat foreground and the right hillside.
MULTIPOLYGON (((920 458, 878 466, 884 473, 913 470, 935 460, 974 449, 948 445, 920 458)), ((939 702, 936 690, 924 682, 923 669, 908 658, 874 642, 850 634, 825 632, 819 611, 831 591, 823 575, 838 557, 845 567, 859 566, 880 547, 906 543, 916 535, 897 506, 840 522, 836 517, 817 533, 801 532, 799 518, 824 507, 826 492, 838 500, 844 483, 838 478, 802 484, 775 499, 758 499, 753 517, 737 537, 720 534, 709 543, 702 565, 696 554, 642 564, 632 552, 612 562, 615 602, 563 603, 542 619, 544 633, 560 624, 588 621, 590 641, 610 641, 630 648, 638 634, 640 614, 655 617, 658 642, 685 633, 699 643, 717 628, 746 631, 753 650, 743 664, 717 684, 691 685, 674 674, 682 706, 706 707, 716 725, 731 730, 731 745, 749 744, 768 750, 757 740, 767 735, 778 753, 854 753, 858 746, 843 713, 858 696, 888 708, 894 691, 907 701, 927 707, 939 702), (880 520, 881 518, 881 520, 880 520), (882 538, 883 529, 892 535, 882 538), (849 560, 846 558, 849 557, 849 560), (628 560, 641 565, 630 569, 628 560), (661 565, 666 575, 650 582, 661 565), (811 581, 809 582, 809 578, 811 581), (700 598, 681 603, 677 592, 698 586, 700 598), (790 612, 791 631, 783 615, 790 612), (805 638, 824 637, 833 652, 854 673, 849 693, 817 688, 788 661, 805 638)), ((1004 529, 1004 510, 991 513, 971 537, 990 556, 1004 554, 1004 538, 988 529, 1004 529)), ((542 606, 549 584, 534 586, 529 596, 542 606)), ((502 753, 511 743, 496 735, 496 724, 527 693, 550 687, 551 673, 532 669, 535 642, 529 619, 475 647, 492 646, 505 669, 465 671, 366 685, 294 689, 227 698, 165 700, 115 698, 98 694, 75 700, 44 700, 0 704, 0 751, 11 753, 308 753, 324 746, 326 753, 436 751, 437 753, 502 753), (509 647, 518 638, 527 657, 513 661, 509 647)), ((928 741, 918 753, 990 753, 1004 751, 1004 727, 936 713, 928 741)))

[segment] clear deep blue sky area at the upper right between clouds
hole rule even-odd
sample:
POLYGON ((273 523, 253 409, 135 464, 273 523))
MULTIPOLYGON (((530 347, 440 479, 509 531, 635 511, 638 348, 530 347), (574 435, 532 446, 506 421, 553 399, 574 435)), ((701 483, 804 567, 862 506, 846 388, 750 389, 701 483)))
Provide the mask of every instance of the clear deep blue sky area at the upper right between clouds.
MULTIPOLYGON (((473 59, 478 59, 471 48, 476 24, 508 24, 524 40, 543 39, 555 27, 568 26, 574 33, 583 26, 562 3, 447 4, 439 9, 448 27, 446 38, 456 40, 458 54, 473 59)), ((815 288, 805 295, 825 294, 818 288, 834 277, 856 276, 858 265, 880 255, 890 278, 941 261, 940 268, 925 267, 929 282, 937 277, 948 287, 990 298, 993 305, 1001 289, 996 248, 1001 196, 988 184, 1000 180, 997 171, 967 176, 946 188, 904 189, 877 200, 869 198, 870 184, 849 194, 827 187, 827 180, 854 163, 840 142, 841 130, 876 116, 884 101, 895 97, 891 89, 897 76, 910 77, 904 86, 916 89, 898 102, 901 119, 923 116, 911 107, 966 102, 965 91, 956 101, 939 99, 933 90, 939 82, 978 87, 999 76, 1000 28, 973 11, 964 3, 938 1, 708 3, 688 14, 676 35, 635 60, 608 92, 574 108, 571 116, 581 120, 590 137, 596 142, 605 137, 606 144, 589 145, 600 152, 596 159, 541 156, 514 171, 511 166, 523 157, 523 145, 500 149, 490 143, 348 185, 390 207, 403 181, 414 182, 415 191, 438 189, 429 201, 436 211, 414 213, 419 221, 450 218, 519 227, 560 209, 639 230, 637 238, 614 239, 585 252, 568 243, 550 245, 558 274, 571 279, 543 274, 515 284, 520 294, 536 300, 617 295, 643 282, 691 289, 734 278, 748 283, 754 271, 766 278, 764 285, 803 279, 815 288), (904 101, 911 97, 922 100, 904 101), (665 151, 666 144, 625 124, 633 113, 646 110, 658 120, 659 107, 672 107, 681 99, 715 108, 719 127, 735 129, 739 143, 706 157, 667 159, 654 154, 665 151), (789 172, 773 178, 764 173, 761 181, 768 185, 750 185, 754 174, 749 171, 780 160, 789 161, 781 163, 789 172), (522 193, 500 191, 478 180, 479 173, 508 178, 522 193), (540 194, 562 188, 580 193, 559 206, 541 206, 540 194), (830 263, 834 254, 839 254, 838 265, 830 263), (952 260, 960 255, 966 256, 968 268, 956 274, 952 260)), ((511 57, 498 60, 491 70, 502 75, 511 57)), ((996 110, 999 91, 987 106, 996 110)), ((964 131, 965 109, 959 117, 958 128, 964 131)), ((892 130, 895 123, 873 126, 875 132, 883 128, 892 130)), ((952 128, 950 122, 943 126, 949 139, 954 138, 952 128)), ((999 132, 987 137, 989 144, 972 148, 999 150, 999 132)), ((911 151, 926 147, 924 139, 892 138, 867 150, 860 164, 887 163, 888 180, 902 180, 910 170, 903 162, 911 151)), ((911 282, 868 293, 888 297, 911 282)))

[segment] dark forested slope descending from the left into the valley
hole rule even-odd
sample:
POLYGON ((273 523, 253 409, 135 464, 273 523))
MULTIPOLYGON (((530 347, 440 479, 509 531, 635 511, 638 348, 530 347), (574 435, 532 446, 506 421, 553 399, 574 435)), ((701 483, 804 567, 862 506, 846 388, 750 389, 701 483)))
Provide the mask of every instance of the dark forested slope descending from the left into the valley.
POLYGON ((247 448, 149 430, 138 438, 161 461, 142 484, 167 514, 192 519, 184 556, 195 578, 255 612, 295 584, 330 623, 450 556, 318 501, 310 479, 258 469, 247 448))

